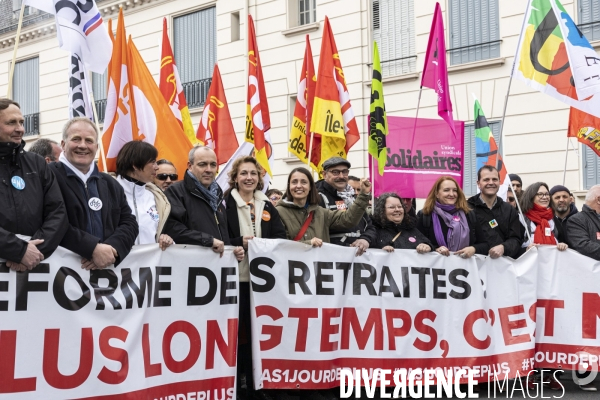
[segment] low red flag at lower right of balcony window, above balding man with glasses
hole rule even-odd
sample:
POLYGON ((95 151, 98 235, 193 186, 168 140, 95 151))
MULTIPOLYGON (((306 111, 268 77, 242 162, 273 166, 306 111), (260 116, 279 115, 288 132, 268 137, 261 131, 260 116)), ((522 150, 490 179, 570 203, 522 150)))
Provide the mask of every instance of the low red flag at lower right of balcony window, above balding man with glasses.
POLYGON ((214 149, 219 164, 226 163, 239 146, 217 64, 213 70, 213 78, 204 102, 196 137, 206 146, 214 149))

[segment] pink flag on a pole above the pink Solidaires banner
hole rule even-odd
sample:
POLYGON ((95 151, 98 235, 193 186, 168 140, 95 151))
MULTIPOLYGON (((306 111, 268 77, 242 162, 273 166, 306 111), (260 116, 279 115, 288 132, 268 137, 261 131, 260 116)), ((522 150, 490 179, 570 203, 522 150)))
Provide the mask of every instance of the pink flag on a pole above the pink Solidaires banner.
POLYGON ((448 123, 448 126, 456 137, 454 118, 452 117, 452 102, 450 101, 450 88, 448 87, 444 20, 442 18, 440 3, 435 3, 430 32, 427 52, 425 53, 421 87, 425 86, 435 90, 438 95, 438 115, 448 123))

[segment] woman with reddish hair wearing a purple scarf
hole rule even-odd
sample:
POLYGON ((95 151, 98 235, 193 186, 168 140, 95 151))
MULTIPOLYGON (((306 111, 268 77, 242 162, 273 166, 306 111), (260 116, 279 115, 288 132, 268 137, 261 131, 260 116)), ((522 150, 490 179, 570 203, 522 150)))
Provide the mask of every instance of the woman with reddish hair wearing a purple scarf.
POLYGON ((489 245, 475 214, 458 183, 449 176, 440 177, 429 192, 425 206, 417 215, 417 229, 443 256, 450 253, 469 258, 487 255, 489 245))

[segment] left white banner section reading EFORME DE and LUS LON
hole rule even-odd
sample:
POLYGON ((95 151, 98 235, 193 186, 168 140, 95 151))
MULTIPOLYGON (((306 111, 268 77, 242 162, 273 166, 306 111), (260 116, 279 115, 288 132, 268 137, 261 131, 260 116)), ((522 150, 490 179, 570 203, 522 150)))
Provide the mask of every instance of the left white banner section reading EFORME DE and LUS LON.
POLYGON ((234 399, 237 261, 136 246, 86 271, 63 248, 29 272, 0 264, 0 399, 234 399))

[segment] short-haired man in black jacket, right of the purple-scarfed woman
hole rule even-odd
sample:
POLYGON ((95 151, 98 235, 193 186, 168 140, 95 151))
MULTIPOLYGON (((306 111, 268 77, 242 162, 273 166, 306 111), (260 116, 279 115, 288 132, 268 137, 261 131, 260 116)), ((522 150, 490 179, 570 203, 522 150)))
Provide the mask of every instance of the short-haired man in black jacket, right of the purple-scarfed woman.
POLYGON ((481 167, 477 171, 477 187, 479 195, 471 197, 468 203, 488 236, 490 257, 517 258, 525 228, 519 222, 517 210, 497 196, 500 189, 498 170, 491 165, 481 167))

